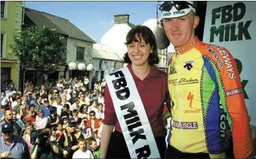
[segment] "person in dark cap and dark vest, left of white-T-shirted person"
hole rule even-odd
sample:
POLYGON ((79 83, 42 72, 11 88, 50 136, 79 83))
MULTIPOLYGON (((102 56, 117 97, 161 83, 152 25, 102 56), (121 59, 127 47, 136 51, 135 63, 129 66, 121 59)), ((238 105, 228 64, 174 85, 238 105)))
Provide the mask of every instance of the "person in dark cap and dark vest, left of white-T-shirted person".
POLYGON ((79 148, 78 139, 83 139, 82 133, 76 133, 76 121, 69 121, 67 131, 63 132, 60 136, 60 140, 57 142, 60 149, 60 153, 63 154, 63 158, 72 158, 74 152, 79 148))

